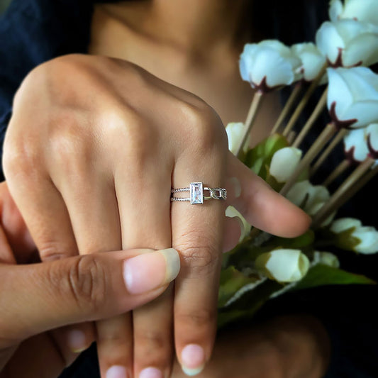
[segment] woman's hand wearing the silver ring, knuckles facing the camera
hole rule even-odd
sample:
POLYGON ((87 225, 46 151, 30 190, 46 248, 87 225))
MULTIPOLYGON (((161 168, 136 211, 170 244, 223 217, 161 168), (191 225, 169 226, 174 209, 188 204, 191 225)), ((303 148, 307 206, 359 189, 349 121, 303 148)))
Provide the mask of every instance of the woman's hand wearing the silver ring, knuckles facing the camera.
POLYGON ((109 368, 169 374, 172 338, 187 372, 210 358, 225 204, 171 207, 172 187, 226 187, 228 204, 270 233, 290 237, 308 226, 304 213, 228 153, 209 106, 121 60, 70 55, 30 73, 14 101, 4 171, 44 261, 179 251, 182 271, 164 296, 96 324, 103 376, 109 368))

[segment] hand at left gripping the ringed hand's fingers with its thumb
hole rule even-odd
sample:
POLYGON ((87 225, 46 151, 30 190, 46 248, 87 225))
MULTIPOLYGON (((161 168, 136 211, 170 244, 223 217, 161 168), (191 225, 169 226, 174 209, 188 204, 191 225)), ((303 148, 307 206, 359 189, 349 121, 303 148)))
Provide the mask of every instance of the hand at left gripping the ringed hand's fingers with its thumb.
POLYGON ((179 269, 173 250, 109 252, 26 265, 38 260, 38 254, 4 182, 0 220, 0 377, 57 377, 78 355, 72 342, 77 338, 87 345, 92 342, 77 327, 67 325, 145 304, 167 288, 179 269), (138 272, 135 267, 141 264, 138 272), (134 294, 138 279, 124 280, 130 265, 146 292, 134 294), (52 330, 57 327, 62 328, 52 330))

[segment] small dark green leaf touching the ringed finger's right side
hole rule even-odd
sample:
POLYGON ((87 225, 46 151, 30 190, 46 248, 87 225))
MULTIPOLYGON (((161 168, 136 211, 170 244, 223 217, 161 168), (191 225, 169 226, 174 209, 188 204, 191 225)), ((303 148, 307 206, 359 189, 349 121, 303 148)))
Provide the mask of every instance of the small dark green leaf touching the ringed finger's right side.
POLYGON ((221 271, 221 282, 218 294, 218 307, 223 307, 242 287, 257 281, 257 277, 247 277, 231 266, 221 271))

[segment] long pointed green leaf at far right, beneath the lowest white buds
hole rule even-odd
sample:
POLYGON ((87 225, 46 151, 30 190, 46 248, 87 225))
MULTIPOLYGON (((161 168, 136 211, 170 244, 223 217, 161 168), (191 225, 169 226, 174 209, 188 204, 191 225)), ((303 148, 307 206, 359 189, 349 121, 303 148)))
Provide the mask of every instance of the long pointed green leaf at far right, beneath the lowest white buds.
POLYGON ((308 270, 306 276, 299 281, 294 290, 308 289, 323 285, 345 285, 345 284, 376 284, 372 279, 360 274, 346 272, 343 269, 318 264, 308 270))

